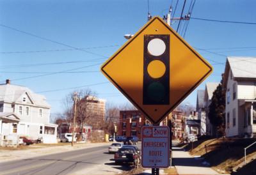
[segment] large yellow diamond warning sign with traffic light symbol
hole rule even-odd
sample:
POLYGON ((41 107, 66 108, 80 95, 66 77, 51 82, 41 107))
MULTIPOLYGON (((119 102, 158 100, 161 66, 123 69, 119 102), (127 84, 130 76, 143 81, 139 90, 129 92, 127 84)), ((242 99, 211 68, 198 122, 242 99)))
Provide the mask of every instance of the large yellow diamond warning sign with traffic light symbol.
POLYGON ((159 123, 212 72, 160 17, 148 21, 100 69, 152 123, 159 123))

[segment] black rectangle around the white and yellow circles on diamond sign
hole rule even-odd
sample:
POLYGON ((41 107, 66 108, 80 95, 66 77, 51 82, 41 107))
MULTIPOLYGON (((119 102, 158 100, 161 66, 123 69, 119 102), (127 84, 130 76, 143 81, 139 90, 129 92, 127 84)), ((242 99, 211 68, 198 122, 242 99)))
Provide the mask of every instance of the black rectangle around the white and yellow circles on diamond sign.
POLYGON ((170 35, 145 34, 143 56, 143 105, 169 105, 170 104, 170 35), (160 39, 165 44, 163 54, 154 56, 148 51, 148 43, 160 39), (161 61, 165 66, 163 76, 154 78, 148 73, 148 65, 154 60, 161 61))

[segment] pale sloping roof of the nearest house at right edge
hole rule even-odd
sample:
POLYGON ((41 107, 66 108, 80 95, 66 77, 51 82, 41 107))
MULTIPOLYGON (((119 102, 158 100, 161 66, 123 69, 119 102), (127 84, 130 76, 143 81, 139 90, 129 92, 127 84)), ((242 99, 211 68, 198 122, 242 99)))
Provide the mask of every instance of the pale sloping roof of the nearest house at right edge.
POLYGON ((256 78, 256 57, 227 57, 233 77, 256 78))

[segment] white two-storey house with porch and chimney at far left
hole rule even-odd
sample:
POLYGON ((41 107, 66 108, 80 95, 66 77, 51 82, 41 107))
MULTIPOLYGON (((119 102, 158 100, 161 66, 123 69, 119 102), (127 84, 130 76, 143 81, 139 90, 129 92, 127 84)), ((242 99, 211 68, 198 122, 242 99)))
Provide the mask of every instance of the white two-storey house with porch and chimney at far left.
POLYGON ((51 106, 43 95, 29 88, 0 84, 0 134, 1 142, 8 135, 42 138, 44 143, 57 142, 57 126, 49 123, 51 106))

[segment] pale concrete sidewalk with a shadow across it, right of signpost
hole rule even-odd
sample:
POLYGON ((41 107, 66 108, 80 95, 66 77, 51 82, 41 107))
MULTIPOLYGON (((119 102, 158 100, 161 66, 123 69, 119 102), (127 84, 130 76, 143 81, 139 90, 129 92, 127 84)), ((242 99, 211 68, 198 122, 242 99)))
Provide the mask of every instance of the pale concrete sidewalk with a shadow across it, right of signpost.
POLYGON ((189 155, 188 151, 183 151, 177 147, 173 147, 173 165, 178 174, 219 174, 211 169, 209 163, 202 160, 202 158, 194 158, 189 155))

